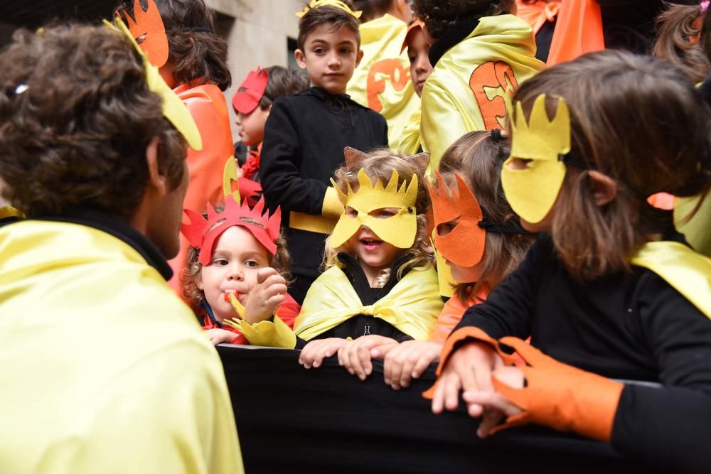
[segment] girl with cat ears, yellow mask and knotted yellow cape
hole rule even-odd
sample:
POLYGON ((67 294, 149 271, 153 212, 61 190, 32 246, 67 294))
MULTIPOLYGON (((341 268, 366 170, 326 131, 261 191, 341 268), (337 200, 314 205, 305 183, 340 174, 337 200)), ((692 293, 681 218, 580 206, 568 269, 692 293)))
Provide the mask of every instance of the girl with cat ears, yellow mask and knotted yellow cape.
POLYGON ((358 352, 369 359, 380 343, 432 333, 443 303, 424 217, 428 158, 346 149, 334 183, 344 212, 326 242, 326 271, 294 323, 294 333, 309 341, 299 356, 304 367, 319 367, 336 352, 343 365, 349 345, 362 345, 358 352), (370 337, 361 344, 360 336, 370 337))

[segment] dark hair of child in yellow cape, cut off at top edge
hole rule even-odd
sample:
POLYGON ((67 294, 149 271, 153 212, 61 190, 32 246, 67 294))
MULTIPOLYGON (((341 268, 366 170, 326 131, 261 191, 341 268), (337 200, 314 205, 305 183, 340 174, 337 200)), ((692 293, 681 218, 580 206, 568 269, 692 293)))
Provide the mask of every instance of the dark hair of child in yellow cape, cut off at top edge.
POLYGON ((432 38, 483 16, 508 14, 515 0, 415 0, 415 14, 432 38))

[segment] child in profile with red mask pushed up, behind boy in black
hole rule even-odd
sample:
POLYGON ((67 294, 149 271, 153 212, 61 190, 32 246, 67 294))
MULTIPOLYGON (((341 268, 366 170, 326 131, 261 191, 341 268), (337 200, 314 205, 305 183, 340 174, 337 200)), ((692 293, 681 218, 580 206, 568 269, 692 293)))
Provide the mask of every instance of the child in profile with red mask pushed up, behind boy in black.
POLYGON ((260 155, 272 102, 283 95, 294 95, 309 87, 309 78, 295 70, 272 66, 250 71, 232 97, 232 107, 237 112, 242 144, 250 147, 247 161, 239 171, 242 199, 254 198, 262 191, 260 182, 260 155))

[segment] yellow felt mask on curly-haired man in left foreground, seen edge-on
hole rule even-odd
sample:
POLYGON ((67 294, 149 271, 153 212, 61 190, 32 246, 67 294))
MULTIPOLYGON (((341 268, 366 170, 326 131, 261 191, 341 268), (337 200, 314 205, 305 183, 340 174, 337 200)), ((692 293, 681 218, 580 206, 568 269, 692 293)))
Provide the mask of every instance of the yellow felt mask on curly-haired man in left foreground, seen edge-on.
POLYGON ((186 107, 180 97, 168 87, 163 77, 161 77, 160 72, 158 72, 158 68, 151 64, 146 53, 144 53, 138 43, 136 43, 129 28, 127 28, 118 16, 114 18, 114 24, 106 20, 104 20, 104 24, 120 31, 131 41, 143 59, 143 65, 146 70, 146 83, 148 84, 149 90, 161 96, 163 102, 161 111, 163 112, 163 116, 176 127, 183 138, 188 142, 188 146, 190 146, 191 149, 200 151, 203 148, 203 140, 195 120, 193 120, 193 117, 188 111, 188 107, 186 107))

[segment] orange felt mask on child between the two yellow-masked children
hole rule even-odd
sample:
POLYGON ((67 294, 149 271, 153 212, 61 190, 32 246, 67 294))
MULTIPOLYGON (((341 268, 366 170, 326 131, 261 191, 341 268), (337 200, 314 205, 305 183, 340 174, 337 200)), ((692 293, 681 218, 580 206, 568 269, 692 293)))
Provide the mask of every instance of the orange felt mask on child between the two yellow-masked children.
POLYGON ((434 247, 442 257, 459 266, 474 266, 481 262, 486 242, 486 230, 479 226, 483 213, 476 202, 474 193, 466 185, 464 178, 455 174, 456 195, 448 193, 442 175, 437 172, 437 189, 428 185, 434 214, 434 247), (459 218, 454 229, 447 235, 440 235, 439 225, 459 218))

